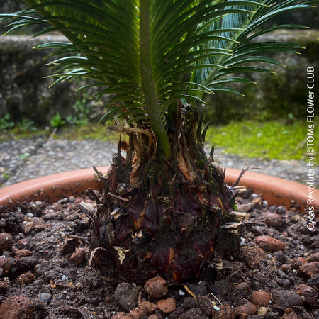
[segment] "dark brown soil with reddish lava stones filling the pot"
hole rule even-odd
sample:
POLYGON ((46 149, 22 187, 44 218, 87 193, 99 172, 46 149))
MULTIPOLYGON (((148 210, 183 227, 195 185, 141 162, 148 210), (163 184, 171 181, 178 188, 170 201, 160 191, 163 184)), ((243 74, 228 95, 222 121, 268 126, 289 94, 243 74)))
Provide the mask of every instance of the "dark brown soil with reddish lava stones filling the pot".
POLYGON ((319 318, 319 232, 306 213, 247 191, 237 198, 251 214, 240 260, 208 264, 196 283, 159 280, 168 291, 154 298, 89 266, 90 222, 74 205, 83 200, 94 204, 86 196, 2 208, 0 318, 319 318))

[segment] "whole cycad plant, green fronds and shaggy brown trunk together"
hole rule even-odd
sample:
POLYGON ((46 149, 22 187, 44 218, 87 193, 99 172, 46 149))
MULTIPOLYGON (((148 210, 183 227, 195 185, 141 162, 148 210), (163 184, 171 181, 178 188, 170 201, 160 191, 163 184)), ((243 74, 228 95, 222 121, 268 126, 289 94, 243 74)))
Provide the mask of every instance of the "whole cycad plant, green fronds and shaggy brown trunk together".
POLYGON ((64 55, 53 62, 56 82, 86 77, 95 84, 82 89, 98 87, 96 99, 114 94, 103 118, 115 116, 110 128, 121 138, 107 176, 100 174, 105 192, 91 216, 91 247, 103 247, 109 262, 102 266, 116 264, 128 280, 164 274, 185 281, 217 257, 235 257, 247 215, 235 212, 235 189, 225 185, 213 150, 204 151, 205 96, 240 94, 228 84, 251 82, 233 74, 271 72, 260 65, 280 62, 264 52, 301 49, 255 40, 302 28, 262 24, 310 1, 24 2, 29 9, 4 16, 18 17, 11 30, 45 23, 41 33, 69 39, 39 46, 64 55))

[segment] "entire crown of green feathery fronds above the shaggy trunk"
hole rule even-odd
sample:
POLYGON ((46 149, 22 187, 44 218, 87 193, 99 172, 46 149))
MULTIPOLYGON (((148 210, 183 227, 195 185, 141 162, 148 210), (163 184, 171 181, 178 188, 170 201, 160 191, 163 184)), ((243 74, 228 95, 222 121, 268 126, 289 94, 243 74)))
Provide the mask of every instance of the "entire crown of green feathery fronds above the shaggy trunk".
MULTIPOLYGON (((179 100, 203 103, 206 94, 230 89, 231 82, 251 83, 237 72, 272 72, 262 65, 281 63, 264 57, 268 51, 296 53, 293 43, 257 42, 262 35, 293 24, 262 29, 265 22, 316 1, 284 0, 25 0, 29 8, 1 15, 17 18, 9 32, 42 23, 38 35, 60 31, 65 43, 38 45, 59 55, 51 62, 55 83, 86 77, 103 94, 114 94, 108 116, 152 129, 168 157, 169 138, 164 113, 179 100), (39 16, 40 15, 40 16, 39 16), (62 55, 62 57, 61 57, 62 55), (190 74, 190 80, 184 80, 190 74), (116 102, 118 107, 112 106, 116 102)), ((188 77, 189 78, 189 77, 188 77)))

